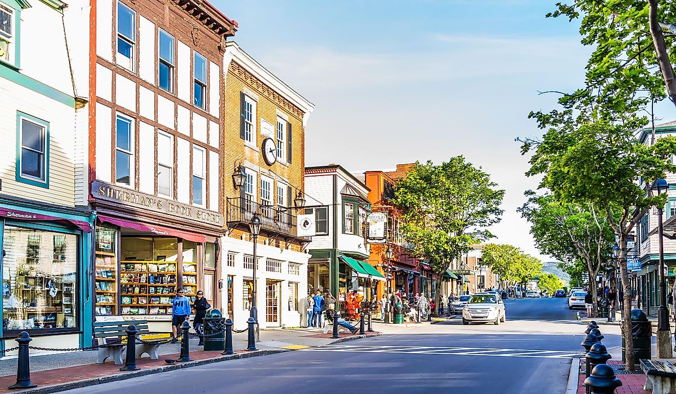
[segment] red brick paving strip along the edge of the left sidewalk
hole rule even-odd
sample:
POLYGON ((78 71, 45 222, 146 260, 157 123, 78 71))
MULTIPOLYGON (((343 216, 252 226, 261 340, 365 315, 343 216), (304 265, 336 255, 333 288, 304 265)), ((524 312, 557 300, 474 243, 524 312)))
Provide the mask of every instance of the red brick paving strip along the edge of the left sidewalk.
MULTIPOLYGON (((245 350, 235 350, 235 353, 245 353, 245 350)), ((206 360, 208 358, 216 358, 220 356, 221 351, 191 351, 190 358, 192 360, 206 360)), ((178 353, 160 355, 160 360, 150 360, 149 358, 140 358, 137 360, 137 366, 144 370, 160 368, 166 366, 164 360, 178 359, 178 353)), ((120 371, 121 365, 115 365, 113 362, 106 362, 104 364, 87 364, 81 366, 72 366, 68 368, 57 368, 53 370, 45 370, 39 372, 31 372, 30 380, 32 383, 39 386, 58 385, 61 383, 70 383, 76 380, 83 380, 89 378, 100 378, 103 376, 110 376, 114 374, 123 374, 120 371)), ((0 393, 16 393, 16 390, 9 390, 7 386, 14 385, 16 382, 16 375, 1 376, 0 377, 0 393)))

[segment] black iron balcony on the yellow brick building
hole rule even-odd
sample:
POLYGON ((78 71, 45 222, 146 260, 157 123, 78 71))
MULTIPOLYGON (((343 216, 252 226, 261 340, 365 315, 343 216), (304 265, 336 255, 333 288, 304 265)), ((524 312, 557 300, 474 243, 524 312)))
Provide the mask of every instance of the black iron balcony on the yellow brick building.
POLYGON ((279 235, 287 240, 311 241, 309 237, 297 237, 298 227, 294 208, 264 205, 243 197, 228 198, 227 200, 226 221, 228 228, 239 227, 248 230, 249 222, 251 222, 255 212, 258 212, 262 222, 262 233, 267 232, 272 237, 279 235))

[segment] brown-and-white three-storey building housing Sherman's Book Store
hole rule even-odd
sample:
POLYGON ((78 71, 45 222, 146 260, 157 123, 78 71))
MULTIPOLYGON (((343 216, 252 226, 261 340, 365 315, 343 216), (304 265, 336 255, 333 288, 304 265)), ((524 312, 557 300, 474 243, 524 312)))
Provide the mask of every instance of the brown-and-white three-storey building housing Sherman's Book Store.
POLYGON ((166 331, 179 288, 221 307, 222 65, 237 23, 206 1, 92 7, 95 316, 166 331))

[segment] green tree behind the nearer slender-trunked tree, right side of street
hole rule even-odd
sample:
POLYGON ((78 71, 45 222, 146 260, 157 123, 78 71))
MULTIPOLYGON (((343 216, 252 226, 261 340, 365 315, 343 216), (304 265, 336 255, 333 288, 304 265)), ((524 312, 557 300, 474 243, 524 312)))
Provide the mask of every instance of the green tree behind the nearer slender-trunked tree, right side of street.
MULTIPOLYGON (((598 212, 593 203, 556 201, 549 193, 527 191, 525 195, 529 199, 517 211, 531 223, 537 249, 562 262, 583 262, 589 278, 596 278, 608 263, 615 243, 605 212, 598 212)), ((596 286, 589 290, 596 299, 596 286)))

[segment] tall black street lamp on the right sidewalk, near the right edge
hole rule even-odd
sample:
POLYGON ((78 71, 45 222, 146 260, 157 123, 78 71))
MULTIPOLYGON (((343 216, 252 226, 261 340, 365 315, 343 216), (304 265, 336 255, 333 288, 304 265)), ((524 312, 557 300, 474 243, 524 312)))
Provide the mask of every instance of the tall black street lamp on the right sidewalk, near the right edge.
MULTIPOLYGON (((658 195, 669 190, 666 179, 658 179, 652 184, 652 190, 658 195)), ((665 282, 665 248, 662 230, 662 206, 657 207, 657 231, 660 251, 660 307, 657 314, 657 353, 658 358, 671 358, 671 333, 669 332, 669 311, 667 310, 667 283, 665 282)))

